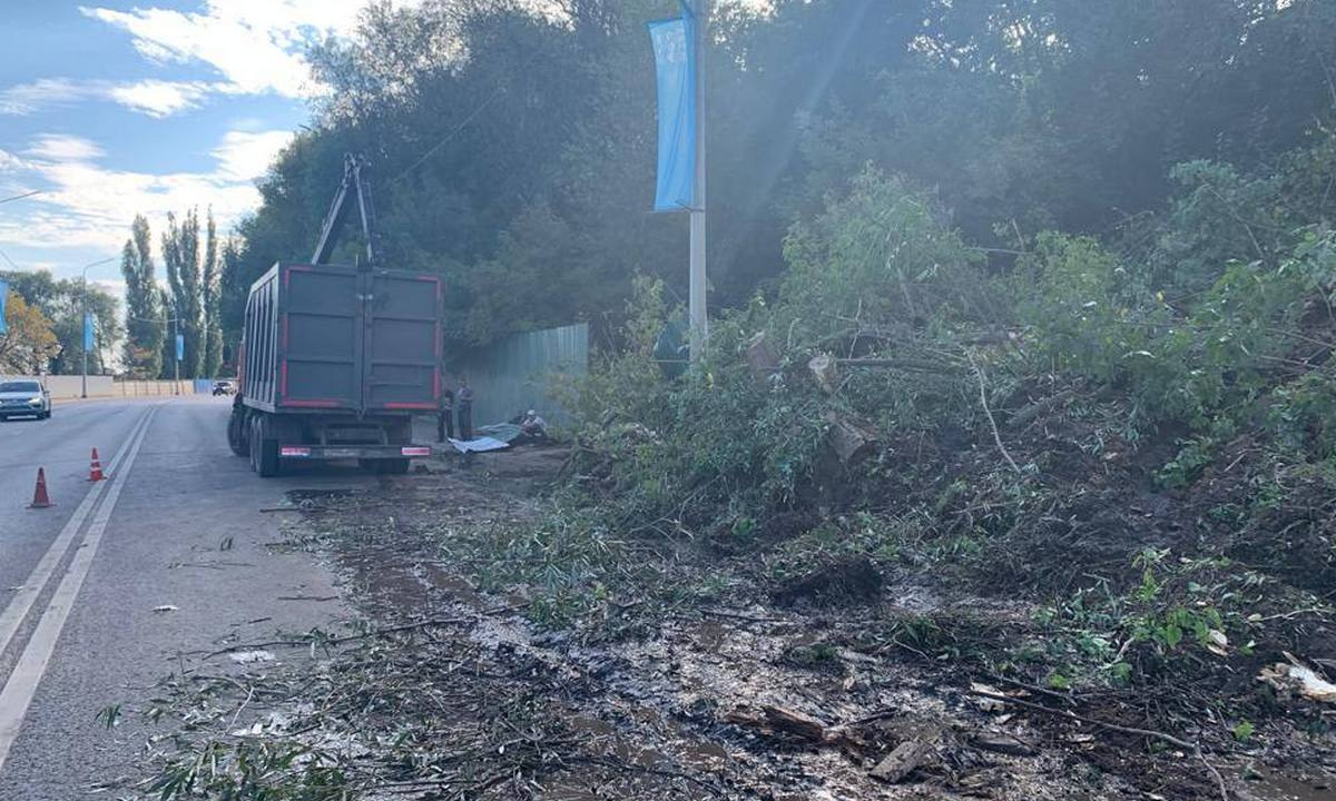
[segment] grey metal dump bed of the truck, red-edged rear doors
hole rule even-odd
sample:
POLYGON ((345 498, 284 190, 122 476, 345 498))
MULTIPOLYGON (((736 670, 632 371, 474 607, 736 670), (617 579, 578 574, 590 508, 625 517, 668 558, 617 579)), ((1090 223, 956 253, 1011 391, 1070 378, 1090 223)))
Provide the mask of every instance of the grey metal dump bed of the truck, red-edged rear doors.
POLYGON ((441 394, 441 280, 393 270, 275 264, 246 302, 246 406, 386 414, 441 394))

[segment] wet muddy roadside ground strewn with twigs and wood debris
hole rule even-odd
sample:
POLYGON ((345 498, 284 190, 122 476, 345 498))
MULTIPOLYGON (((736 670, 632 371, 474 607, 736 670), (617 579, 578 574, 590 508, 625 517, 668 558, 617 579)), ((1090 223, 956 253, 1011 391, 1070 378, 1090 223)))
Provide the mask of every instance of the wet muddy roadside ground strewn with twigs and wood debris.
POLYGON ((554 623, 533 585, 489 579, 453 545, 484 530, 516 547, 501 533, 533 523, 562 465, 522 447, 294 498, 293 541, 335 561, 373 629, 410 629, 330 654, 326 697, 361 706, 294 698, 305 712, 269 733, 358 765, 363 797, 1336 798, 1328 734, 1249 746, 1230 742, 1226 710, 1172 686, 1138 708, 991 674, 974 654, 1025 635, 1034 609, 912 569, 874 581, 851 563, 775 591, 745 555, 704 575, 675 553, 669 582, 717 591, 596 601, 554 623), (1202 753, 1133 732, 1148 708, 1180 706, 1205 716, 1182 721, 1202 753))

